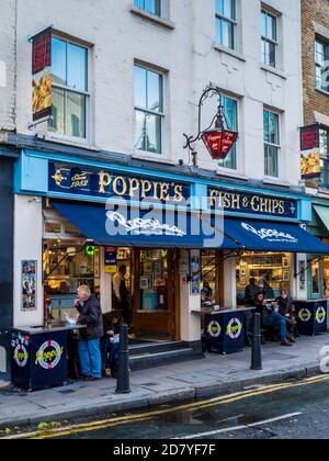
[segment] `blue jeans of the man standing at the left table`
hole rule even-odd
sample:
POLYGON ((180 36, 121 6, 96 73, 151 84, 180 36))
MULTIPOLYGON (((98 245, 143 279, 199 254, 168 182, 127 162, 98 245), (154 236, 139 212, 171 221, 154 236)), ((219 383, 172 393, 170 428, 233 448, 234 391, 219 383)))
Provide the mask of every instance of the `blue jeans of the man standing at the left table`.
POLYGON ((102 378, 102 357, 100 339, 80 339, 79 357, 83 376, 102 378))

